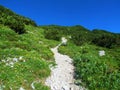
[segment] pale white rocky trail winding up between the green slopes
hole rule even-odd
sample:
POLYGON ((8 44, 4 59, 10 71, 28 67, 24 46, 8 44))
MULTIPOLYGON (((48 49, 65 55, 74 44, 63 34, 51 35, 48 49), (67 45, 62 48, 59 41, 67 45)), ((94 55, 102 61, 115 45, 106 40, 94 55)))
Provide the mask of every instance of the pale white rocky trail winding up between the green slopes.
POLYGON ((60 54, 58 52, 59 46, 51 49, 57 65, 51 67, 51 76, 46 79, 45 84, 51 90, 84 90, 84 88, 74 84, 72 59, 67 55, 60 54))

